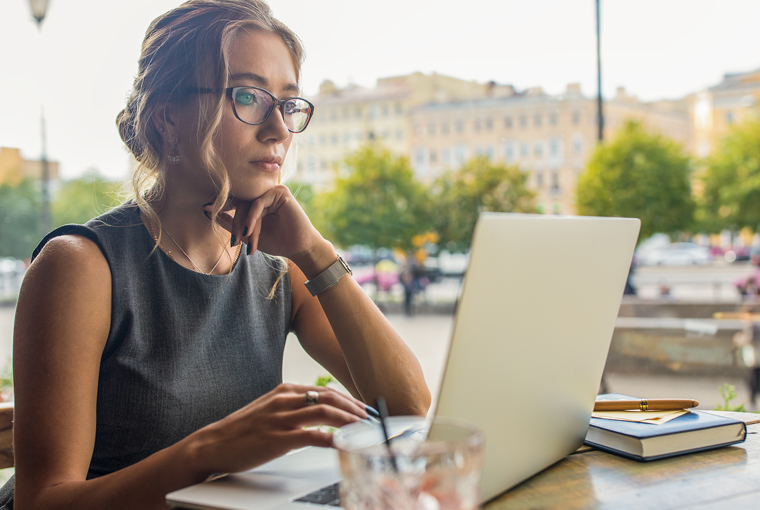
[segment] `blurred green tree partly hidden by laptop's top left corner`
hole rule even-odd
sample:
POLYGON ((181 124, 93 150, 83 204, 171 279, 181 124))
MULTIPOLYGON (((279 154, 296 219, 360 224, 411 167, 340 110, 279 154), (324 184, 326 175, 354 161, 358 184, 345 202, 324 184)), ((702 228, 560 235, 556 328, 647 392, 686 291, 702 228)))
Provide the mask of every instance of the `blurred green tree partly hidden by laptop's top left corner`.
POLYGON ((451 251, 467 251, 475 221, 483 211, 536 212, 535 193, 527 174, 516 166, 480 157, 450 171, 433 186, 434 225, 439 243, 451 251))

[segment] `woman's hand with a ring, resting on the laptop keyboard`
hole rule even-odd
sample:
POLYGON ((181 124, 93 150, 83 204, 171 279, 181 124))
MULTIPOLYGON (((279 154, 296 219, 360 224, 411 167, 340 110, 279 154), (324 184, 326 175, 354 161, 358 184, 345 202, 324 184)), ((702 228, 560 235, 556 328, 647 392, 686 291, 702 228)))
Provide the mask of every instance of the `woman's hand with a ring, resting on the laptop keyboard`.
POLYGON ((367 418, 365 405, 330 388, 280 384, 226 418, 194 432, 188 441, 208 474, 251 469, 304 446, 330 447, 332 434, 313 425, 342 427, 367 418), (306 405, 306 392, 318 393, 306 405))

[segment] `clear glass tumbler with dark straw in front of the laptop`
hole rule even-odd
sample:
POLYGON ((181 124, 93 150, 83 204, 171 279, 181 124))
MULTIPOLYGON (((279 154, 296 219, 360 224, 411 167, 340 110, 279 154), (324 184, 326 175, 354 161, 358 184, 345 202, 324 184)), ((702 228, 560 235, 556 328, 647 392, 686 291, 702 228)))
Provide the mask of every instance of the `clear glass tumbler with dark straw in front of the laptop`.
POLYGON ((347 510, 471 510, 478 508, 483 433, 451 418, 397 416, 380 424, 347 425, 333 436, 347 510))

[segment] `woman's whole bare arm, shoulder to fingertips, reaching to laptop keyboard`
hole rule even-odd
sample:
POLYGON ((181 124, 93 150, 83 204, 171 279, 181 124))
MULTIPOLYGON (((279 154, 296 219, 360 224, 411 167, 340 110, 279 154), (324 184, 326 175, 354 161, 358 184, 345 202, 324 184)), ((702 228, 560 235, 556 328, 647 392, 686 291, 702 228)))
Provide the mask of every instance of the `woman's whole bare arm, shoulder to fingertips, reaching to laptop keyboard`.
POLYGON ((14 333, 15 506, 18 510, 159 509, 166 493, 211 473, 255 467, 329 434, 303 426, 341 426, 366 417, 361 405, 320 390, 282 385, 219 422, 115 473, 86 480, 95 443, 100 357, 110 325, 111 277, 89 240, 51 240, 29 269, 14 333))

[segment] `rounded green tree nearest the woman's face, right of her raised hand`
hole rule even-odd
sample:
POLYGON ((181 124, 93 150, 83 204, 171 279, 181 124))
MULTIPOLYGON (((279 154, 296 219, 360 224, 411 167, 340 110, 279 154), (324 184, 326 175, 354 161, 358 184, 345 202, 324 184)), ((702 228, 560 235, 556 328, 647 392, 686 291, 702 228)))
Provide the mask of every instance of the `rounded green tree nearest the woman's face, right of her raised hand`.
POLYGON ((331 191, 314 198, 317 228, 347 248, 411 251, 412 238, 430 228, 425 188, 414 178, 409 161, 367 145, 345 159, 347 172, 331 191))

